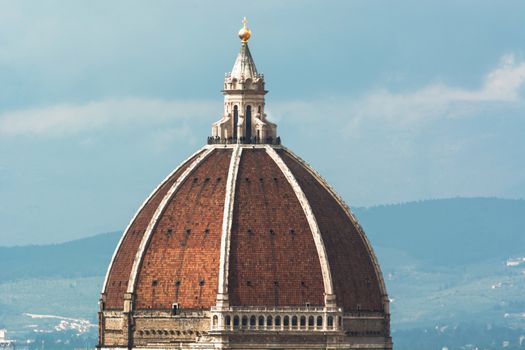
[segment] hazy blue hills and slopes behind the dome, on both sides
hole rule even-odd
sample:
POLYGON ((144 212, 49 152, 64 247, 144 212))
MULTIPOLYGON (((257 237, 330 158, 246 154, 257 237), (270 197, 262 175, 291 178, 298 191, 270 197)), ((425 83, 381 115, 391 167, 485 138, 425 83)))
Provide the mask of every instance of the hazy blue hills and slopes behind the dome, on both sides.
MULTIPOLYGON (((354 213, 381 262, 397 349, 525 348, 525 200, 440 199, 354 213)), ((15 336, 58 331, 57 319, 36 314, 85 319, 85 331, 94 330, 120 234, 0 247, 0 327, 15 336)))

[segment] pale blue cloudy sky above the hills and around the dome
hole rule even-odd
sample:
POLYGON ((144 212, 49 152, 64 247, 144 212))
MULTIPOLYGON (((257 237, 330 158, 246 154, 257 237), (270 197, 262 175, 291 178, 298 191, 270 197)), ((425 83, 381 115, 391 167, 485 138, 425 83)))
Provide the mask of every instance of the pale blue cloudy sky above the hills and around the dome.
POLYGON ((0 246, 122 230, 204 145, 243 16, 350 206, 525 198, 523 1, 0 0, 0 246))

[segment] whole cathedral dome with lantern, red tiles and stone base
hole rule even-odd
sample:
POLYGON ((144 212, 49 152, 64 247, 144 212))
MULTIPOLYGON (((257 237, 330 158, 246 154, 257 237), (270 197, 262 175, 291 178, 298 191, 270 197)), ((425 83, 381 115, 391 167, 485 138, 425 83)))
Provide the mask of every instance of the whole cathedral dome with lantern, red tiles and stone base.
POLYGON ((153 191, 118 244, 101 349, 392 349, 372 247, 343 200, 281 145, 250 34, 239 32, 208 144, 153 191))

